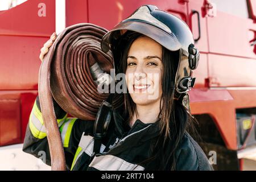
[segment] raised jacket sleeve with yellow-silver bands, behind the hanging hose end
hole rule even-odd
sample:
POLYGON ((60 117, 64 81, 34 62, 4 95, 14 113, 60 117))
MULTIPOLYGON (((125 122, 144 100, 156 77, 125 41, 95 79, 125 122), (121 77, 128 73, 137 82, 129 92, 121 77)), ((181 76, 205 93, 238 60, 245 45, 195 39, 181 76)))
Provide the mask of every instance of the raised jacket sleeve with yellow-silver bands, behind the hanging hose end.
MULTIPOLYGON (((82 121, 82 119, 78 118, 67 118, 67 113, 61 109, 56 101, 53 101, 53 105, 63 142, 66 166, 70 169, 82 132, 92 134, 93 122, 82 121)), ((51 166, 46 129, 40 111, 39 96, 36 97, 30 114, 23 151, 36 156, 36 158, 45 159, 43 162, 51 166)))

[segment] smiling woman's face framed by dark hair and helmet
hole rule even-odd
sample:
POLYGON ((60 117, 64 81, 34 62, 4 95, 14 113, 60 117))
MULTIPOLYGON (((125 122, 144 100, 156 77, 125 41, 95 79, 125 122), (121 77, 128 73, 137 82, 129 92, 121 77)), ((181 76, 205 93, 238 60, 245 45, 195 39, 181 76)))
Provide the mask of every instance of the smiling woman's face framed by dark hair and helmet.
POLYGON ((126 83, 130 96, 137 105, 160 102, 162 96, 162 46, 141 36, 127 55, 126 83))

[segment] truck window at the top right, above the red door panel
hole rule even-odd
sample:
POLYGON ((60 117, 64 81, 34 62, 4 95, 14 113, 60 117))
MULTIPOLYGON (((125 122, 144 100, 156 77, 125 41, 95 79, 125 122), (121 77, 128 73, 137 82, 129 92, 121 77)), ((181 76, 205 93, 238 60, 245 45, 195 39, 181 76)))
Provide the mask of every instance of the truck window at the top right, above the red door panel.
POLYGON ((241 18, 249 18, 246 0, 210 0, 217 5, 217 10, 241 18))

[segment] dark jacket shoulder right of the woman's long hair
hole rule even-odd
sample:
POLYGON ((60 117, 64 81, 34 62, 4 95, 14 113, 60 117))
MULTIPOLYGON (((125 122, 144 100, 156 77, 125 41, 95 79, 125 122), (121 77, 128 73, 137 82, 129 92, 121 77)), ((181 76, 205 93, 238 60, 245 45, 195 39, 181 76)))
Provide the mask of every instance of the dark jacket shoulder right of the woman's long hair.
POLYGON ((207 156, 199 144, 185 132, 176 152, 176 170, 212 171, 207 156))

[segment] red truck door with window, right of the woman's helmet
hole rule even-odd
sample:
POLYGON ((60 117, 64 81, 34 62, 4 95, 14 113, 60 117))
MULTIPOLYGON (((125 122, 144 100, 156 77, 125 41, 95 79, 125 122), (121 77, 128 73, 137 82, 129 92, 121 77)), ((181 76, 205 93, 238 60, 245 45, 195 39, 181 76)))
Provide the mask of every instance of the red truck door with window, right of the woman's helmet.
MULTIPOLYGON (((250 7, 247 1, 189 1, 191 9, 196 5, 197 9, 200 7, 203 10, 201 16, 207 26, 207 32, 204 33, 208 39, 209 86, 256 86, 256 55, 254 46, 251 46, 255 39, 256 24, 249 18, 250 7), (210 13, 211 3, 216 5, 213 13, 210 13)), ((199 46, 203 45, 204 40, 201 41, 199 46)), ((207 48, 203 50, 207 51, 207 48)))

